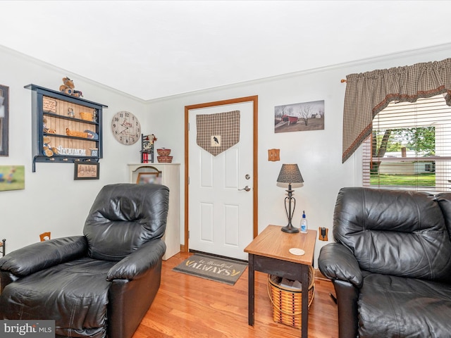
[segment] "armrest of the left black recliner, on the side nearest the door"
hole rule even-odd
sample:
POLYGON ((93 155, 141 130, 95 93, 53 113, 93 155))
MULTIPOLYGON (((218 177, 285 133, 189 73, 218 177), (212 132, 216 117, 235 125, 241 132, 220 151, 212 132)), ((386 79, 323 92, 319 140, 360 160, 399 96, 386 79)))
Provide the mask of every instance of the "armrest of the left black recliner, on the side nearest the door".
POLYGON ((113 265, 106 280, 136 280, 147 270, 154 268, 161 261, 165 252, 166 244, 161 239, 152 239, 113 265))

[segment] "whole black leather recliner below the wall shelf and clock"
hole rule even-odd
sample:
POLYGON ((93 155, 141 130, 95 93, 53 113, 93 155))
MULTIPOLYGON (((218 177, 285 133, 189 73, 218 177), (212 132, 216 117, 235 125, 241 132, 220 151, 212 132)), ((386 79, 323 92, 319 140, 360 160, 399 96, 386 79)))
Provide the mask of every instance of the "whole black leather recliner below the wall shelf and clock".
POLYGON ((83 236, 0 258, 0 318, 55 320, 56 337, 132 337, 161 280, 169 189, 110 184, 83 236))

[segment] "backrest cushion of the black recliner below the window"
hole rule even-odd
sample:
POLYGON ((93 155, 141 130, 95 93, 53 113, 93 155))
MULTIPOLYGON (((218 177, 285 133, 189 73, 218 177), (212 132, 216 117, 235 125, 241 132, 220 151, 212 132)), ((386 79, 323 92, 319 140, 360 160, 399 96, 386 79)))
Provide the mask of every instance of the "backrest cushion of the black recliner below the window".
POLYGON ((433 195, 342 188, 333 220, 334 238, 362 270, 451 282, 451 241, 433 195))

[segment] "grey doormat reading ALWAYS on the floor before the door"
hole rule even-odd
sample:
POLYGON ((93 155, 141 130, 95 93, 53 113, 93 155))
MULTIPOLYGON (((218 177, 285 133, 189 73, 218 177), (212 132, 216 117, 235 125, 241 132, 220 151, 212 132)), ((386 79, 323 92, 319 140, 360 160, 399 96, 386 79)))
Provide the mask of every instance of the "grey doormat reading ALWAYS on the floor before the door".
POLYGON ((185 259, 173 270, 207 280, 216 280, 216 282, 234 285, 246 267, 247 263, 234 261, 233 259, 194 253, 193 256, 185 259))

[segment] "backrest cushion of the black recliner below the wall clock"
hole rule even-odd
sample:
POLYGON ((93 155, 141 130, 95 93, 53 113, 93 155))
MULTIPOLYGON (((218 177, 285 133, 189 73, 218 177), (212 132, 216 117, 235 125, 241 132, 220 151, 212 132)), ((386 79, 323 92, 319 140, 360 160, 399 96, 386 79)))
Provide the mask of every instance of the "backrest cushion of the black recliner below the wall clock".
POLYGON ((121 261, 142 244, 163 237, 169 189, 160 184, 109 184, 89 211, 83 234, 92 258, 121 261))

